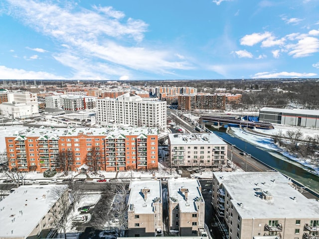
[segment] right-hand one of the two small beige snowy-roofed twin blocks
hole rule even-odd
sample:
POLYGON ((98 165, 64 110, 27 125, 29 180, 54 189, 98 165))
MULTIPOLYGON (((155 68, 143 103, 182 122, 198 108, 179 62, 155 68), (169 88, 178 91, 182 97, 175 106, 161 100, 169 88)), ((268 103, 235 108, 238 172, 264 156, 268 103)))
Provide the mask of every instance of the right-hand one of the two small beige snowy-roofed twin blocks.
POLYGON ((204 231, 205 202, 198 179, 168 179, 168 227, 180 237, 204 231))

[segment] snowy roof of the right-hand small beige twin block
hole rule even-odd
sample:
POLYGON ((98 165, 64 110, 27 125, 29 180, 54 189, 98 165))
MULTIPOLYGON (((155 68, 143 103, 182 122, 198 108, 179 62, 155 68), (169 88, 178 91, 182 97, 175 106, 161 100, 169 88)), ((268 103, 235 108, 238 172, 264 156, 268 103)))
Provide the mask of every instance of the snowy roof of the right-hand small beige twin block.
POLYGON ((201 186, 198 179, 193 178, 171 178, 168 179, 169 199, 178 202, 181 213, 197 212, 195 202, 204 202, 201 195, 201 186), (187 189, 188 195, 185 200, 182 189, 187 189))

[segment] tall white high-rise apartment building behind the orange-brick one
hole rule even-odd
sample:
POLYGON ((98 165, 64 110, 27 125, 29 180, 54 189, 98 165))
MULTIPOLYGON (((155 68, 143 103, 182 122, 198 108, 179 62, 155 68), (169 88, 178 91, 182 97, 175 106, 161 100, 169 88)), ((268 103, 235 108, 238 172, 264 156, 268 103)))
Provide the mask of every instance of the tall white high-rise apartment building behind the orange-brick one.
POLYGON ((166 102, 147 101, 127 93, 116 99, 97 100, 96 120, 102 126, 112 122, 138 127, 166 127, 166 102))

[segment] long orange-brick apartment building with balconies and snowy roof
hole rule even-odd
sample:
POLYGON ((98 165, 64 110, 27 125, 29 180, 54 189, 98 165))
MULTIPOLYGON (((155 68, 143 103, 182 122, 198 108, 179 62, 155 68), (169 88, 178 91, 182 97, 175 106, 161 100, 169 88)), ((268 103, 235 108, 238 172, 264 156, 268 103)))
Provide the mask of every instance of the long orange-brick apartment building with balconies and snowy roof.
POLYGON ((23 171, 158 168, 157 128, 33 128, 5 137, 8 165, 23 171), (83 167, 81 167, 83 168, 83 167))

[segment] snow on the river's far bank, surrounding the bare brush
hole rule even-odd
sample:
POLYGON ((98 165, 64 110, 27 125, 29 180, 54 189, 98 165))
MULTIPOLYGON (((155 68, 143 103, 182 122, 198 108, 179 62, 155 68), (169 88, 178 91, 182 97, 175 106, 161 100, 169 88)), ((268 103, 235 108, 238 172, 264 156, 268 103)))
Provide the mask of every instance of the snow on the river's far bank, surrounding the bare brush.
MULTIPOLYGON (((266 137, 266 136, 256 135, 256 134, 247 132, 241 128, 236 128, 236 127, 232 127, 231 130, 232 130, 232 134, 236 135, 240 139, 247 141, 247 142, 250 142, 259 148, 267 149, 270 152, 270 154, 272 154, 276 157, 278 157, 278 155, 283 155, 283 156, 297 162, 296 163, 297 166, 303 165, 303 166, 305 166, 305 169, 311 168, 314 170, 314 171, 311 170, 312 172, 319 175, 319 165, 318 164, 314 164, 313 161, 309 158, 299 158, 299 157, 296 157, 295 155, 290 154, 289 152, 285 151, 283 148, 276 145, 271 136, 266 137)), ((275 129, 256 129, 256 131, 258 131, 258 132, 266 133, 269 135, 274 135, 279 130, 282 130, 283 133, 286 133, 288 130, 296 130, 296 127, 287 126, 287 125, 275 125, 275 129)), ((300 130, 303 132, 304 136, 319 134, 319 130, 317 130, 317 129, 310 130, 308 128, 300 128, 300 130)), ((281 157, 281 159, 288 161, 284 157, 281 157)))

